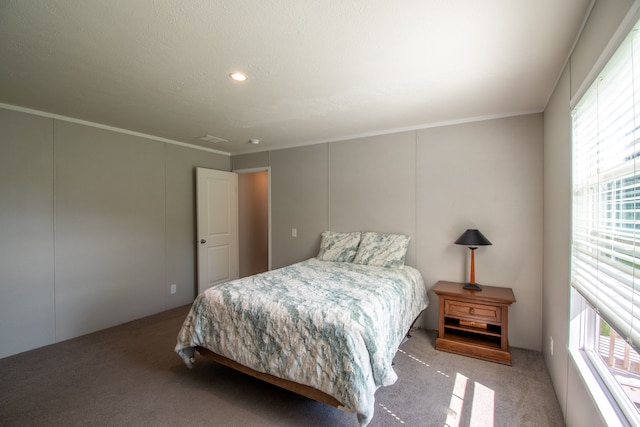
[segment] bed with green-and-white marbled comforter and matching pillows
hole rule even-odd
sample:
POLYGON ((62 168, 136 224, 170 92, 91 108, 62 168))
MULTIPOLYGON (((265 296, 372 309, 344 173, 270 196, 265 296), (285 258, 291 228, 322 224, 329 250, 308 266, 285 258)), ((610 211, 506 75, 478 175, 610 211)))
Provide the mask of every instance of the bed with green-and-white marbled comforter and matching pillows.
POLYGON ((388 236, 401 235, 324 232, 316 258, 202 292, 176 352, 188 366, 199 353, 368 424, 375 391, 397 380, 393 357, 428 304, 422 276, 404 265, 408 237, 393 254, 388 236), (357 244, 340 243, 345 235, 357 244))

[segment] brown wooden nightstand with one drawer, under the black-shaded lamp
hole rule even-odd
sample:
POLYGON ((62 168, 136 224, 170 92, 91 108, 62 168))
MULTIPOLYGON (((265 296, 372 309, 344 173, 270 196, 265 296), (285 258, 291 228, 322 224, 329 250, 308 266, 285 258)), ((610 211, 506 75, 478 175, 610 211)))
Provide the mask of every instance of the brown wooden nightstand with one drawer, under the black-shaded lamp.
POLYGON ((462 283, 439 281, 433 288, 440 298, 436 350, 511 365, 509 305, 516 302, 511 288, 462 288, 462 283))

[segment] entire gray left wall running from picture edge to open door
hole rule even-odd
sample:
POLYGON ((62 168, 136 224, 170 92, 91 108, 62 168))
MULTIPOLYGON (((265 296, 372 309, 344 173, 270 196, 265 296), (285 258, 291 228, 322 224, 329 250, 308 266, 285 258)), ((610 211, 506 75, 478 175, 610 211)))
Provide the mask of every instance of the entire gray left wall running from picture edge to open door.
POLYGON ((229 156, 8 109, 0 129, 0 357, 193 300, 193 171, 229 156))

